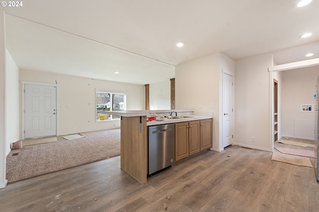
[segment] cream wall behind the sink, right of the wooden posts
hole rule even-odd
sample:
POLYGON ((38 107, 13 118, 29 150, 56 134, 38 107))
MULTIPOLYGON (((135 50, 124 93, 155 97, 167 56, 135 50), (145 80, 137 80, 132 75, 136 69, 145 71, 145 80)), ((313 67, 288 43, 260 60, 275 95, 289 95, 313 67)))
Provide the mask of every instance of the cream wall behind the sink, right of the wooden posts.
POLYGON ((213 149, 219 150, 219 53, 175 67, 175 108, 185 104, 195 113, 213 113, 213 149))

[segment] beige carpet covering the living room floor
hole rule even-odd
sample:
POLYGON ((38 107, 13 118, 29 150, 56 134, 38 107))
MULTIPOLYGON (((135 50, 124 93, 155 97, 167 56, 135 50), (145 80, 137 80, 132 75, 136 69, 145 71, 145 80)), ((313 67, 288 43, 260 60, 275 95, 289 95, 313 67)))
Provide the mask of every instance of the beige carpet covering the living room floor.
POLYGON ((8 183, 118 156, 120 129, 81 133, 85 138, 23 146, 6 156, 8 183))

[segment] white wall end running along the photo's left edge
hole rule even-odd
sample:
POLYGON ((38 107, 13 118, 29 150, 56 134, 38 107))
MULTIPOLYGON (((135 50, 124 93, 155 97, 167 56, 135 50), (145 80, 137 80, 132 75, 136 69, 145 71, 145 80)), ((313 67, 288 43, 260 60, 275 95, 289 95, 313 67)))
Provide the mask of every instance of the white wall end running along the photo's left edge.
POLYGON ((0 188, 6 186, 5 179, 5 22, 0 10, 0 188))

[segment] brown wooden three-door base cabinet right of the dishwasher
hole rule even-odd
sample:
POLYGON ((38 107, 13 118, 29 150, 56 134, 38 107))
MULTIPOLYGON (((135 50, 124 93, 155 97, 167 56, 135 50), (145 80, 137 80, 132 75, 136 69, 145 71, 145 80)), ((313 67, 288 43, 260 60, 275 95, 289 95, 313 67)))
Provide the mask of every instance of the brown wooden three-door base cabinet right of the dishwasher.
POLYGON ((175 123, 175 161, 212 146, 212 119, 175 123))

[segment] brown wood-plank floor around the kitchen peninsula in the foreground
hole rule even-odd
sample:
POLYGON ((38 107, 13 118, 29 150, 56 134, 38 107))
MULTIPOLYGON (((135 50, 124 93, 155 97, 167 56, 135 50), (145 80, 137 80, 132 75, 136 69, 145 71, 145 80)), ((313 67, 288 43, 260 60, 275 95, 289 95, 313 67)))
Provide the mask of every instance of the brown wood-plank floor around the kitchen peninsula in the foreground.
POLYGON ((317 212, 314 168, 272 161, 271 155, 240 146, 207 151, 145 185, 114 157, 8 184, 0 189, 0 211, 317 212))

